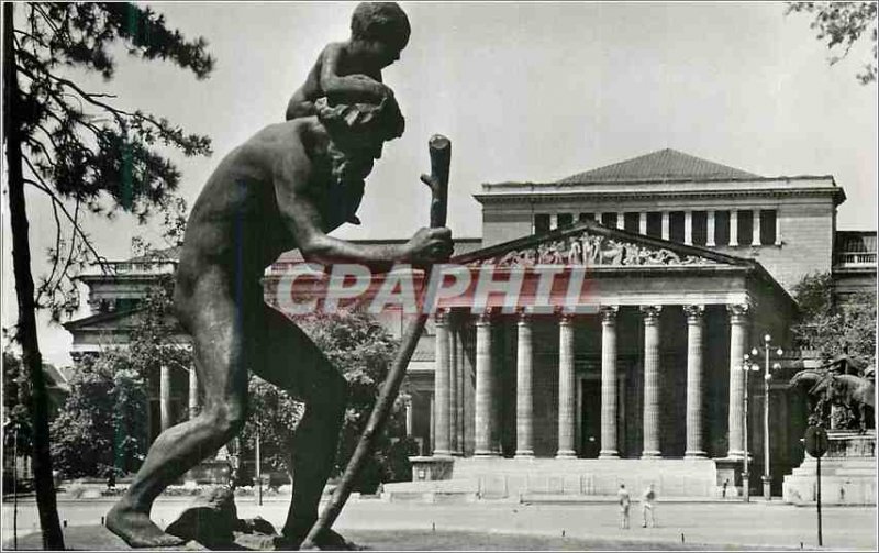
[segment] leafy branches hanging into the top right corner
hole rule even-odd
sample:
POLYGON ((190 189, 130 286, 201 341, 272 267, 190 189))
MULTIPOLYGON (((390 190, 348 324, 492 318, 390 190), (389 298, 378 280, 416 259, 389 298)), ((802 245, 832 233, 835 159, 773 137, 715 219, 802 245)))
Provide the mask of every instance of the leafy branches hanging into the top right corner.
POLYGON ((843 48, 841 55, 831 57, 831 65, 845 58, 861 36, 872 41, 872 59, 864 64, 856 75, 861 85, 876 81, 877 27, 876 2, 788 2, 785 14, 809 13, 814 16, 812 29, 817 40, 826 41, 827 48, 843 48))

